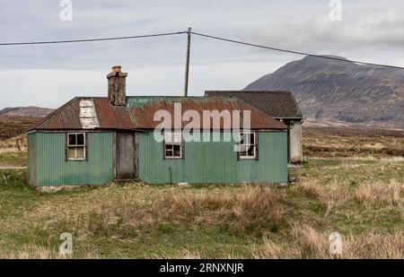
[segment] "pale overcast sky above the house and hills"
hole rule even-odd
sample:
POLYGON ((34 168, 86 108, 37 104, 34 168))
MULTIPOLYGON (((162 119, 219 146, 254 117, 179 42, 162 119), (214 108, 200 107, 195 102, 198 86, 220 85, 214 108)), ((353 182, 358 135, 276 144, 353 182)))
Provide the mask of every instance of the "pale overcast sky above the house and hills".
MULTIPOLYGON (((2 1, 0 43, 92 39, 187 30, 312 54, 404 66, 404 1, 2 1), (71 2, 71 21, 61 19, 71 2), (340 12, 330 2, 339 2, 340 12), (331 16, 330 16, 331 13, 331 16), (337 15, 336 15, 337 14, 337 15), (339 16, 340 15, 340 16, 339 16)), ((333 4, 333 3, 331 3, 333 4)), ((339 6, 338 6, 339 7, 339 6)), ((57 108, 106 96, 112 65, 127 95, 182 95, 187 36, 0 46, 0 109, 57 108)), ((192 36, 189 95, 241 90, 303 56, 192 36)))

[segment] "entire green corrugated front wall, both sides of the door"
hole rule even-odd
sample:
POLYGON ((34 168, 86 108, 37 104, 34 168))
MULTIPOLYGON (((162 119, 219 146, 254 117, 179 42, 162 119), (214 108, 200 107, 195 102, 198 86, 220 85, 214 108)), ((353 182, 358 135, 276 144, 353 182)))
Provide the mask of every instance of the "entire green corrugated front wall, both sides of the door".
MULTIPOLYGON (((221 134, 223 136, 223 133, 221 134)), ((102 185, 113 179, 113 133, 88 133, 88 160, 67 161, 66 135, 29 134, 31 186, 102 185)), ((139 177, 149 184, 286 183, 287 134, 259 133, 259 160, 237 160, 233 142, 185 143, 185 159, 163 160, 153 133, 138 134, 139 177)))

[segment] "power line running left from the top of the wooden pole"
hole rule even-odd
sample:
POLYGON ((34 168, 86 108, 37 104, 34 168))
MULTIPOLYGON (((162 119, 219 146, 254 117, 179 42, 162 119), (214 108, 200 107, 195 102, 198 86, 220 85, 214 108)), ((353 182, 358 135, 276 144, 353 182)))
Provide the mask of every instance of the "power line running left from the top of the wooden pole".
POLYGON ((140 35, 140 36, 100 38, 100 39, 71 39, 71 40, 50 40, 50 41, 31 41, 31 42, 5 42, 5 43, 0 43, 0 46, 76 43, 76 42, 93 42, 93 41, 120 40, 120 39, 144 39, 144 38, 180 35, 180 34, 185 34, 186 32, 187 31, 177 31, 177 32, 166 32, 166 33, 140 35))

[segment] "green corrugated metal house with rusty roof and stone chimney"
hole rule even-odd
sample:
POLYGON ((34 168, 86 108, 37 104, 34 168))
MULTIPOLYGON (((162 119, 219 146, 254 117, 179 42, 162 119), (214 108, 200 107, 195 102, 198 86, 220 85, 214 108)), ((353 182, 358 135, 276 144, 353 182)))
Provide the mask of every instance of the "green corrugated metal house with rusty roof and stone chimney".
POLYGON ((31 186, 134 179, 149 184, 287 183, 287 126, 281 122, 234 98, 127 97, 127 74, 120 66, 112 69, 109 97, 77 97, 31 127, 31 186), (179 104, 180 113, 192 110, 200 116, 200 128, 181 133, 190 120, 184 116, 180 125, 172 123, 173 131, 154 132, 162 123, 156 114, 164 111, 175 118, 179 104), (249 111, 250 129, 228 128, 213 118, 205 126, 201 118, 212 110, 249 111), (186 137, 206 134, 216 140, 186 137))

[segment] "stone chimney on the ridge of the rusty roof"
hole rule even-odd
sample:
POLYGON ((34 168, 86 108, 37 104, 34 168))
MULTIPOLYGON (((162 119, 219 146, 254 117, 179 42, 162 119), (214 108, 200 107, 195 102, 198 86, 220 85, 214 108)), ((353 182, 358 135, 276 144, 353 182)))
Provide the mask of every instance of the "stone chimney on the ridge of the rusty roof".
POLYGON ((112 66, 112 72, 107 75, 108 98, 114 106, 127 106, 127 73, 120 71, 120 65, 112 66))

